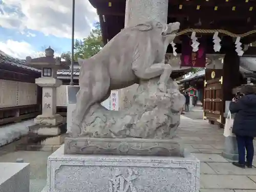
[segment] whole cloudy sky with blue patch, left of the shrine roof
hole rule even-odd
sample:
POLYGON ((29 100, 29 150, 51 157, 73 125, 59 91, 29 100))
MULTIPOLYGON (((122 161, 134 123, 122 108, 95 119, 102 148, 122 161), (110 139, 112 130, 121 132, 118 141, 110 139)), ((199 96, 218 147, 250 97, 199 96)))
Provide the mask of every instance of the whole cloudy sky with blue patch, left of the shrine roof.
MULTIPOLYGON (((87 37, 98 21, 88 0, 76 0, 75 37, 87 37)), ((51 46, 71 51, 72 0, 0 0, 0 51, 25 59, 51 46)))

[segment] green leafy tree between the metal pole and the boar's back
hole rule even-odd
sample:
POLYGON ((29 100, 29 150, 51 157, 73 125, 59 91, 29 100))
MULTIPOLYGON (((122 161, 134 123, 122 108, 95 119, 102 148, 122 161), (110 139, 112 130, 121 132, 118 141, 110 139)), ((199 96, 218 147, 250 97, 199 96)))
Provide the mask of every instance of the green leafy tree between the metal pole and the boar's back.
POLYGON ((90 35, 82 40, 75 42, 75 60, 77 58, 90 58, 97 54, 104 46, 101 36, 101 29, 99 22, 96 23, 95 29, 93 29, 90 35))

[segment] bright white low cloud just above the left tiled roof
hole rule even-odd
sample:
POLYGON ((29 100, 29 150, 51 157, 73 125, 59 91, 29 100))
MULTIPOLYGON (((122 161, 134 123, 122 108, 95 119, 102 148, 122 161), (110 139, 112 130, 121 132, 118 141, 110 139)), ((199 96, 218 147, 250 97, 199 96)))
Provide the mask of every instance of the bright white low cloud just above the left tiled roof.
MULTIPOLYGON (((8 39, 6 42, 0 41, 0 50, 7 55, 19 59, 26 59, 27 56, 33 58, 45 55, 42 51, 34 51, 34 47, 26 41, 15 41, 12 39, 8 39)), ((55 53, 54 55, 60 56, 59 53, 55 53)))

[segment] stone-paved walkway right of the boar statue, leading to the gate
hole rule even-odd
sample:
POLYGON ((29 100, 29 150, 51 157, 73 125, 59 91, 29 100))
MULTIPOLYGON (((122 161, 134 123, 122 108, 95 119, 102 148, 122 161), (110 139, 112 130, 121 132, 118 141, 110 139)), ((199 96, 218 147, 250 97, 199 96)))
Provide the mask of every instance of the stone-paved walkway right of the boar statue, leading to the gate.
POLYGON ((223 129, 210 125, 206 120, 181 120, 178 135, 187 150, 201 161, 200 191, 256 192, 256 161, 252 169, 242 169, 224 159, 221 156, 224 146, 222 134, 223 129))

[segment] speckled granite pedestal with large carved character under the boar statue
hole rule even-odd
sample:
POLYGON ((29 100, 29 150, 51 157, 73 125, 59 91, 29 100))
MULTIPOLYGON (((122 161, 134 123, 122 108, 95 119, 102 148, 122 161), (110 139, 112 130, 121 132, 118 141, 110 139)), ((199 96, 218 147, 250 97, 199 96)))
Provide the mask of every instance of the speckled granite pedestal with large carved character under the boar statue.
POLYGON ((195 192, 200 188, 199 160, 191 155, 65 155, 62 145, 48 158, 47 176, 44 192, 195 192))

